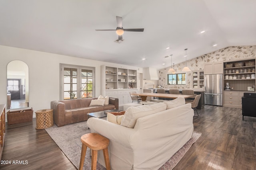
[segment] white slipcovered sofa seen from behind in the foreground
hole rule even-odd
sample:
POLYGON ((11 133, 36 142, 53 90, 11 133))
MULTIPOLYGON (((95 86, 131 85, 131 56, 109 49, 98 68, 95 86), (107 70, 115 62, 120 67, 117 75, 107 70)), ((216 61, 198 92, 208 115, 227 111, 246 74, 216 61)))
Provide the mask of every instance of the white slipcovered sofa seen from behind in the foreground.
MULTIPOLYGON (((108 154, 112 170, 157 170, 192 137, 194 110, 191 104, 185 104, 184 99, 180 100, 181 106, 151 112, 150 115, 145 115, 150 112, 145 110, 150 107, 158 110, 154 107, 162 107, 161 104, 165 102, 160 105, 129 107, 126 112, 144 110, 143 117, 132 115, 136 119, 134 128, 95 117, 88 119, 87 125, 92 133, 99 133, 110 140, 108 154)), ((102 151, 98 153, 98 162, 105 167, 102 151)))

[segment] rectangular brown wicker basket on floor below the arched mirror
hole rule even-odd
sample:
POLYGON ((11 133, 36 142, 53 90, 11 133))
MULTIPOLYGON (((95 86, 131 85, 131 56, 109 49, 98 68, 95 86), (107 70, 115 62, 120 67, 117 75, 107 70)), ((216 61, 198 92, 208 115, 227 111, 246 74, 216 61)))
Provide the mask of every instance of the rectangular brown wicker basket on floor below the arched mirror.
POLYGON ((33 109, 16 110, 7 112, 7 124, 18 124, 32 121, 33 109))

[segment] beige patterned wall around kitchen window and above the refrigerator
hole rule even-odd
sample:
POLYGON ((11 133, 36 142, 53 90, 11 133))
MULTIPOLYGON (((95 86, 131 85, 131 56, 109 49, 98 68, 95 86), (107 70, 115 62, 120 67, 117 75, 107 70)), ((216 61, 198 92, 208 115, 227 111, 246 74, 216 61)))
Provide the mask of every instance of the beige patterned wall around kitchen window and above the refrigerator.
MULTIPOLYGON (((212 53, 201 55, 194 59, 188 60, 187 65, 190 70, 204 70, 204 64, 214 63, 214 62, 225 62, 225 61, 234 61, 240 59, 255 58, 256 45, 251 46, 230 46, 226 47, 212 53)), ((174 65, 176 73, 182 72, 182 68, 185 66, 185 61, 179 64, 174 65)), ((159 70, 159 84, 164 86, 164 88, 178 88, 186 89, 192 88, 192 72, 187 74, 187 83, 186 85, 167 85, 167 72, 170 67, 163 68, 159 70)), ((157 85, 157 84, 156 84, 157 85)))

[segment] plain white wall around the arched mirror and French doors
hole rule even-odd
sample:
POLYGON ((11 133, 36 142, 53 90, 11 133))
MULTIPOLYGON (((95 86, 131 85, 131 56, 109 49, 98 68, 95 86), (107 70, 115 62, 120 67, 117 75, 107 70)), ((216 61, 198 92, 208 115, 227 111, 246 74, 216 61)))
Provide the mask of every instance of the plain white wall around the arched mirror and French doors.
POLYGON ((95 67, 96 97, 100 95, 101 65, 114 65, 116 67, 124 66, 130 69, 142 70, 142 68, 134 66, 106 63, 0 45, 0 104, 7 104, 6 68, 7 64, 13 60, 24 61, 28 64, 29 107, 33 107, 34 111, 48 109, 50 108, 50 102, 52 100, 60 100, 60 63, 95 67))

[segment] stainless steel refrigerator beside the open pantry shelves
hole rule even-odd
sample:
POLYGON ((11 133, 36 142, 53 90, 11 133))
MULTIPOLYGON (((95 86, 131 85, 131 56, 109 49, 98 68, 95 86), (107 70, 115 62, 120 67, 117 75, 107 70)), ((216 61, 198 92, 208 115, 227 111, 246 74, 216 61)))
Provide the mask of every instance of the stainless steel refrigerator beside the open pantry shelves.
POLYGON ((204 104, 222 106, 222 74, 204 75, 204 104))

